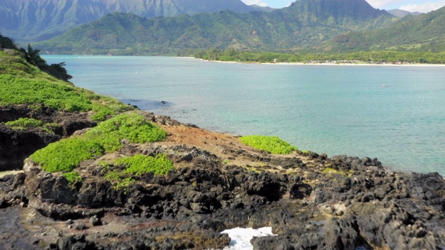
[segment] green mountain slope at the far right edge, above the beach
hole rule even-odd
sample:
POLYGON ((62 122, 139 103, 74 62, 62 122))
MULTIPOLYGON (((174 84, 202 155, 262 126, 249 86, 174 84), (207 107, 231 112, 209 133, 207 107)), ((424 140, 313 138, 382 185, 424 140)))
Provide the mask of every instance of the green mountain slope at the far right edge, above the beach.
POLYGON ((423 15, 407 15, 387 28, 351 31, 323 44, 325 51, 445 51, 445 7, 423 15))

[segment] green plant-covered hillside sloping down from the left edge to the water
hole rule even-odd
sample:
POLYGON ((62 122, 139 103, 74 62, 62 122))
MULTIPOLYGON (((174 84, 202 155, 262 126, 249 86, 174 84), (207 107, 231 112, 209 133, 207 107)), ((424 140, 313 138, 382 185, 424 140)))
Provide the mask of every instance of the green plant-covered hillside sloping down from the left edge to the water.
POLYGON ((92 119, 96 121, 134 110, 116 99, 76 88, 72 83, 45 74, 27 63, 18 50, 0 50, 0 106, 29 104, 41 109, 42 103, 67 112, 93 110, 92 119))

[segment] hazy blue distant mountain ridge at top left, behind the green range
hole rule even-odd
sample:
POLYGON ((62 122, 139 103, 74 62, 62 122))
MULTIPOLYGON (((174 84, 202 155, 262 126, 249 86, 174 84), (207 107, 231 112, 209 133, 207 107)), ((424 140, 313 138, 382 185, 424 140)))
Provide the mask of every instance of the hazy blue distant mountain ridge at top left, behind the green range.
POLYGON ((53 38, 111 12, 172 17, 199 12, 270 11, 241 0, 1 0, 0 30, 17 42, 53 38))

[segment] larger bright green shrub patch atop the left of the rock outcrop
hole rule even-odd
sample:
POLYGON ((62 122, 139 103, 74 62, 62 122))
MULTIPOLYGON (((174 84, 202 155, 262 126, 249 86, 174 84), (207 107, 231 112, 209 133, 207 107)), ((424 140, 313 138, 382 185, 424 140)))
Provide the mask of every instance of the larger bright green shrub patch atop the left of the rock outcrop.
POLYGON ((31 160, 46 172, 70 172, 83 160, 102 156, 122 147, 122 140, 134 143, 164 140, 165 131, 154 126, 142 115, 126 113, 116 115, 84 135, 60 140, 35 151, 31 160))

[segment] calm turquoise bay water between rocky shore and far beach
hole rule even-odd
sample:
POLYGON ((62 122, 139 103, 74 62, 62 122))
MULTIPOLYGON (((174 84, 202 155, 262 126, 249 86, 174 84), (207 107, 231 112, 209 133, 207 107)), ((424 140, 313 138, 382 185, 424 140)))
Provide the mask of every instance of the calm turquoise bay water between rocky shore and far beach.
POLYGON ((302 150, 377 157, 393 169, 445 175, 445 67, 44 58, 66 62, 79 87, 180 122, 277 135, 302 150))

